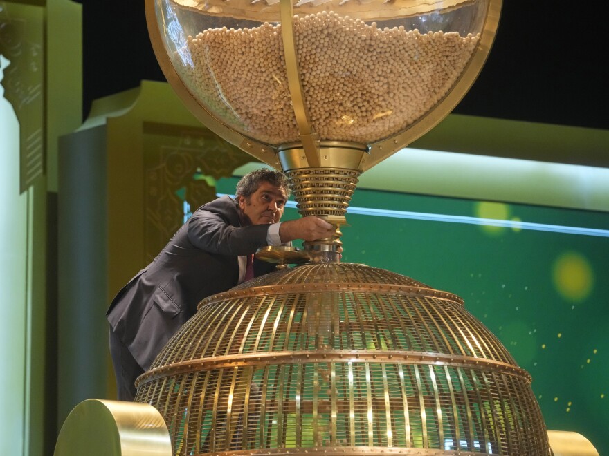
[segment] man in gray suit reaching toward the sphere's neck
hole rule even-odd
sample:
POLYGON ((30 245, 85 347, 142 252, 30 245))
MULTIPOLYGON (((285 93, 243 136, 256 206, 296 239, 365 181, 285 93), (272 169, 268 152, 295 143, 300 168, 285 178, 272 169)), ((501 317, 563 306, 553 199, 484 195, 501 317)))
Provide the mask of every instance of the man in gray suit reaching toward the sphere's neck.
POLYGON ((152 263, 113 299, 110 352, 118 399, 132 401, 136 378, 195 312, 199 302, 225 292, 253 276, 271 272, 273 264, 246 256, 265 245, 327 238, 334 228, 317 217, 280 222, 289 196, 280 171, 258 169, 237 184, 236 200, 223 196, 203 205, 174 234, 152 263))

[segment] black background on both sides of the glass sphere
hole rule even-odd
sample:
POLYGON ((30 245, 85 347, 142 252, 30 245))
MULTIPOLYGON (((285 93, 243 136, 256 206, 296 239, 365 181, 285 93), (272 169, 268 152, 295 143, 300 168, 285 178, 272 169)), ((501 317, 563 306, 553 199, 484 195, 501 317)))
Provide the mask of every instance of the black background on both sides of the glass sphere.
MULTIPOLYGON (((165 81, 144 0, 83 5, 83 117, 93 99, 165 81)), ((609 129, 606 15, 585 3, 505 0, 487 64, 455 113, 609 129), (577 8, 575 8, 577 7, 577 8)))

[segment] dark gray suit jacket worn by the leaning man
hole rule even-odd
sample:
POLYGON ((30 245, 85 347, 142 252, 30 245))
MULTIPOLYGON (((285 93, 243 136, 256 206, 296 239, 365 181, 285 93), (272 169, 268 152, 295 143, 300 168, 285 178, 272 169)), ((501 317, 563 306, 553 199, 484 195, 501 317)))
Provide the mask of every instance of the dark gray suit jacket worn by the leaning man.
MULTIPOLYGON (((228 196, 218 198, 199 207, 152 263, 118 292, 107 318, 144 370, 203 298, 237 285, 237 256, 267 245, 268 229, 242 226, 237 203, 228 196)), ((274 267, 254 260, 255 276, 274 267)))

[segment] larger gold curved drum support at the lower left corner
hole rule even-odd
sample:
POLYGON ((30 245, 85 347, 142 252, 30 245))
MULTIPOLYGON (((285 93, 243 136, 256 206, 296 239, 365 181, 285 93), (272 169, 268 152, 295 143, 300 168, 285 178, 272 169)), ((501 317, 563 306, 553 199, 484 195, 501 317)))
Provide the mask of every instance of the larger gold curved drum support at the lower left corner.
POLYGON ((66 418, 55 456, 172 456, 161 414, 146 403, 87 399, 66 418))

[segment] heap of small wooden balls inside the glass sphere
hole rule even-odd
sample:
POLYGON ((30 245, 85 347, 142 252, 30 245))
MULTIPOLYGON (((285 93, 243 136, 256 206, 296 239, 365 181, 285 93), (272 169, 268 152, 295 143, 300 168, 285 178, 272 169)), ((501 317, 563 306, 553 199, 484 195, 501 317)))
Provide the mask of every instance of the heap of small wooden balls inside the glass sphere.
MULTIPOLYGON (((367 144, 398 133, 451 89, 479 35, 377 28, 320 12, 294 17, 302 87, 321 140, 367 144)), ((298 141, 281 25, 188 37, 185 84, 212 113, 269 144, 298 141)))

